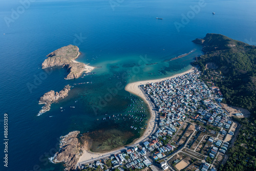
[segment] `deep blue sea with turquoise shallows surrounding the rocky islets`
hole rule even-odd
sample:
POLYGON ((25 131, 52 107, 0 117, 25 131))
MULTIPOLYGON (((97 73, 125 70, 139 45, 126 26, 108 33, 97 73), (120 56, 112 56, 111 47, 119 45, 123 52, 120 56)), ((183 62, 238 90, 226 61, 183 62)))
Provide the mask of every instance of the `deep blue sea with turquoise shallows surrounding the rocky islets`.
POLYGON ((191 41, 206 33, 220 33, 256 45, 255 9, 254 0, 34 0, 24 5, 18 0, 2 0, 0 170, 63 170, 61 164, 51 164, 47 157, 55 153, 60 136, 75 130, 95 132, 93 151, 131 143, 143 130, 131 131, 130 126, 138 123, 124 121, 120 114, 130 111, 137 100, 145 112, 143 116, 133 114, 144 119, 149 116, 146 104, 125 92, 124 86, 190 69, 190 62, 202 54, 201 47, 191 41), (47 54, 70 44, 82 53, 78 61, 99 67, 94 70, 96 74, 65 80, 67 73, 62 68, 41 69, 47 54), (195 52, 169 61, 191 50, 195 52), (80 82, 92 83, 74 86, 67 98, 37 116, 42 107, 38 104, 40 96, 80 82), (116 88, 116 83, 122 89, 110 98, 109 90, 116 88), (109 98, 106 104, 101 103, 104 98, 109 98), (5 113, 8 167, 3 162, 5 113), (108 119, 118 114, 119 120, 108 119), (107 119, 102 120, 104 117, 107 119), (101 142, 101 136, 118 142, 101 142))

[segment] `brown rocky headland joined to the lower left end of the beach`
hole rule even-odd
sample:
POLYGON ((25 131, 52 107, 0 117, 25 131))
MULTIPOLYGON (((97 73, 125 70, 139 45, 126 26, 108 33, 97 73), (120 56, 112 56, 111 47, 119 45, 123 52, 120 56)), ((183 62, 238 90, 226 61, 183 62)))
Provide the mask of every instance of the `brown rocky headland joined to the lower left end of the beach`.
POLYGON ((79 131, 73 131, 60 137, 60 149, 50 160, 53 163, 64 162, 66 170, 74 170, 82 151, 88 149, 90 142, 89 139, 85 140, 84 137, 79 137, 79 134, 79 131))

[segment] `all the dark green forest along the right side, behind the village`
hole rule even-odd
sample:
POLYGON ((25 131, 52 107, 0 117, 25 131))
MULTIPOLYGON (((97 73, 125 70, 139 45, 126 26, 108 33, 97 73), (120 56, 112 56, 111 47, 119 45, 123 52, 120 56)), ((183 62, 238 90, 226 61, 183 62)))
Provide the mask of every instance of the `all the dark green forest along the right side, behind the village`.
POLYGON ((194 42, 202 44, 205 52, 194 62, 202 71, 201 79, 220 89, 222 102, 251 112, 249 119, 233 117, 241 128, 220 170, 256 170, 256 47, 220 34, 194 42))

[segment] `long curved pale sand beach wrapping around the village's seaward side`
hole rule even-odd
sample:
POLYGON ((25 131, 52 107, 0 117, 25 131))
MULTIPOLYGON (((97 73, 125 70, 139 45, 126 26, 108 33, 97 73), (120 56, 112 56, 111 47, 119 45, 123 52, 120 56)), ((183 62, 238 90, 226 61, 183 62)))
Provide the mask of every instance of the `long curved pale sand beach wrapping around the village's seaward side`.
MULTIPOLYGON (((136 96, 139 96, 140 98, 143 99, 144 102, 146 102, 148 108, 150 109, 150 115, 151 115, 150 119, 148 119, 147 127, 146 127, 146 130, 144 131, 143 135, 141 137, 135 139, 132 143, 127 144, 125 146, 133 146, 135 144, 138 144, 142 140, 146 139, 148 136, 150 136, 151 133, 154 131, 155 120, 157 119, 156 114, 153 113, 153 109, 152 109, 153 106, 150 104, 150 102, 148 102, 148 100, 146 99, 143 92, 140 90, 140 88, 138 86, 140 86, 142 84, 152 83, 152 82, 160 82, 162 80, 178 77, 178 76, 181 76, 181 75, 193 72, 193 71, 194 71, 194 68, 191 68, 191 69, 189 69, 185 72, 182 72, 182 73, 179 73, 179 74, 176 74, 176 75, 173 75, 173 76, 169 76, 169 77, 165 77, 165 78, 161 78, 161 79, 132 82, 132 83, 129 83, 125 86, 125 90, 127 92, 130 92, 130 93, 132 93, 136 96)), ((84 162, 84 161, 92 160, 92 158, 96 159, 96 158, 99 158, 99 157, 102 157, 102 156, 107 156, 107 155, 110 155, 110 154, 113 154, 113 153, 117 153, 118 151, 120 151, 120 149, 123 149, 123 148, 124 148, 124 146, 121 146, 119 148, 113 149, 112 151, 105 152, 105 153, 93 153, 93 152, 90 152, 89 149, 87 149, 80 156, 80 158, 77 162, 77 165, 84 162)))

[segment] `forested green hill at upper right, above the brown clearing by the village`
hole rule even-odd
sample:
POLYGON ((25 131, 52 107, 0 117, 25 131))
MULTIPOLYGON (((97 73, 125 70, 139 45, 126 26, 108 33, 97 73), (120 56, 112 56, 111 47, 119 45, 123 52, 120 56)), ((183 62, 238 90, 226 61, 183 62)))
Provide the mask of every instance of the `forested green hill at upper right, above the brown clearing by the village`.
POLYGON ((212 80, 227 103, 256 114, 256 47, 221 34, 206 34, 194 42, 205 52, 194 62, 203 71, 202 79, 212 80))

